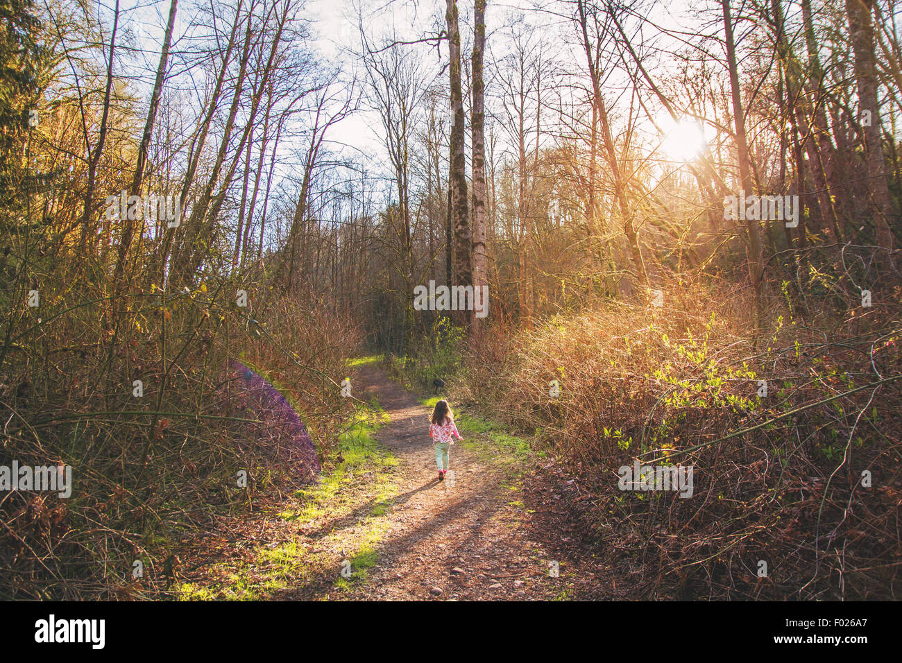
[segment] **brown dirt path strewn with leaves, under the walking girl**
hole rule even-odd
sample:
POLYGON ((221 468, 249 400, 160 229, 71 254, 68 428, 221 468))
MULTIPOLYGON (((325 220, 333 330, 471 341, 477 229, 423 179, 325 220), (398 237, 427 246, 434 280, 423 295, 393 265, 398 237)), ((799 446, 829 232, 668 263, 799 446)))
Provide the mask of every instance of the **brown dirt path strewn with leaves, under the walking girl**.
POLYGON ((485 453, 492 449, 457 443, 451 447, 453 474, 439 482, 428 408, 377 367, 364 367, 361 382, 391 417, 376 439, 400 460, 400 489, 391 501, 392 534, 379 548, 377 565, 342 598, 535 600, 589 594, 574 591, 584 583, 573 582, 579 575, 573 563, 533 536, 536 523, 517 480, 524 468, 493 463, 485 453))

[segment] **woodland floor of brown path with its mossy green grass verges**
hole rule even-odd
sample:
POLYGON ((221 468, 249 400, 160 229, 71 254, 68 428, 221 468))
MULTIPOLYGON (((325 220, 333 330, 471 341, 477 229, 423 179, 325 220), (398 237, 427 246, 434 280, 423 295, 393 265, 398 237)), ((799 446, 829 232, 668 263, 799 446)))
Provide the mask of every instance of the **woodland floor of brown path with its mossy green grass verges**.
MULTIPOLYGON (((524 440, 467 426, 439 482, 429 409, 375 364, 355 396, 385 412, 341 474, 204 539, 183 599, 581 600, 618 594, 566 522, 578 491, 524 440), (364 395, 361 395, 363 391, 364 395), (557 577, 554 570, 557 568, 557 577), (344 573, 343 573, 344 571, 344 573)), ((484 428, 484 427, 483 427, 484 428)), ((624 587, 621 587, 621 592, 624 587)))

